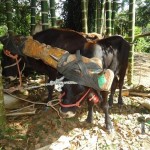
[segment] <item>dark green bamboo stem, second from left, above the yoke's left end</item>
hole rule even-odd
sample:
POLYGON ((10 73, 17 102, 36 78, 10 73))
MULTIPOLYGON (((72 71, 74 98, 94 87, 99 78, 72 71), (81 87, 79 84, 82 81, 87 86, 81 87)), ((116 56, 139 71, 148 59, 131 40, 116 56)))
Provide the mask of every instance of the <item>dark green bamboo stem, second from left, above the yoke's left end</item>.
POLYGON ((31 35, 35 30, 36 0, 31 0, 31 35))

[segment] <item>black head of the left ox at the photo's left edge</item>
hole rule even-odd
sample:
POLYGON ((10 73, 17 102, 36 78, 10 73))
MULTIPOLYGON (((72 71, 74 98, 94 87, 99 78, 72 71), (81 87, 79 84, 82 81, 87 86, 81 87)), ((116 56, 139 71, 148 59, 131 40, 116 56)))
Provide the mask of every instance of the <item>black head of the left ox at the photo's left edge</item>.
POLYGON ((21 36, 9 37, 4 36, 0 38, 1 43, 3 44, 3 51, 2 51, 2 74, 4 77, 9 78, 10 80, 14 80, 17 78, 18 75, 18 68, 17 63, 20 66, 20 71, 22 72, 25 68, 25 63, 22 57, 17 57, 16 59, 11 58, 5 54, 5 50, 10 50, 12 56, 18 54, 18 43, 21 39, 21 36))

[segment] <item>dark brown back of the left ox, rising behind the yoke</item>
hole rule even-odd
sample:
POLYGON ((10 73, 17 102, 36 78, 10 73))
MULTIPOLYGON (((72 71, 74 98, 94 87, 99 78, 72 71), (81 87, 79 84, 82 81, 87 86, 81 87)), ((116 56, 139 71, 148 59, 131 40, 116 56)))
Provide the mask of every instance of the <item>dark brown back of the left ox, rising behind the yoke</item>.
POLYGON ((87 43, 87 40, 76 31, 55 28, 38 32, 33 38, 41 43, 69 51, 71 54, 77 50, 82 52, 87 43))

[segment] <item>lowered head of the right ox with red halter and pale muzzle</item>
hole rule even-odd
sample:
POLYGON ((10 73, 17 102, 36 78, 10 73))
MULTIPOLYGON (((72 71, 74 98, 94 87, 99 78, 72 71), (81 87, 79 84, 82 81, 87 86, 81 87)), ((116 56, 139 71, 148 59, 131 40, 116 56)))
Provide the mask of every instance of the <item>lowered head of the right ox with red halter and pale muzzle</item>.
POLYGON ((99 96, 93 89, 78 84, 65 84, 60 102, 60 113, 64 118, 74 117, 77 108, 84 100, 92 105, 99 102, 99 96))

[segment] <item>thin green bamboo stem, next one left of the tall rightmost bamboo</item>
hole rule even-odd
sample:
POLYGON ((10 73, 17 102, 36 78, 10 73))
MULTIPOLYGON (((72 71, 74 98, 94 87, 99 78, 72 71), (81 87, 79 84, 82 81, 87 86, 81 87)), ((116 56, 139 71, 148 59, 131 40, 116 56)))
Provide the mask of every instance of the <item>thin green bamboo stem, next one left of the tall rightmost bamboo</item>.
POLYGON ((113 0, 112 6, 112 20, 111 20, 111 27, 112 27, 112 35, 114 35, 114 23, 115 23, 115 16, 116 16, 116 4, 117 0, 113 0))

